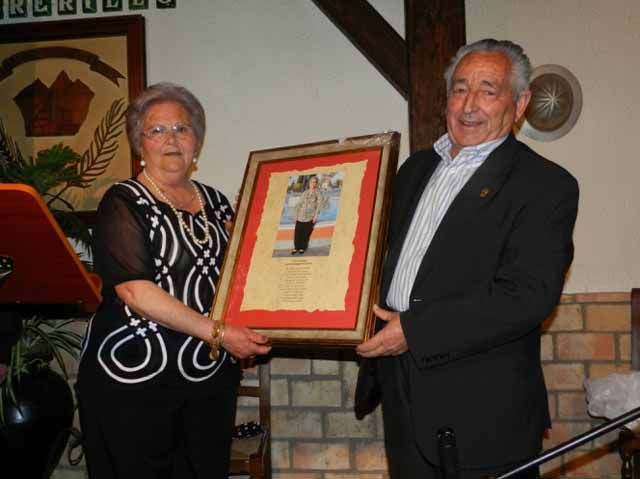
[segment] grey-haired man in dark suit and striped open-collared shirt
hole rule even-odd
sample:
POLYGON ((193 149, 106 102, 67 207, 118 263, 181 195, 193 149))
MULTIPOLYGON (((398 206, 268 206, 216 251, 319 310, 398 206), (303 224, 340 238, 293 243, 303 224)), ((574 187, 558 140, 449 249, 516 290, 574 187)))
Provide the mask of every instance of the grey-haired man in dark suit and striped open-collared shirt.
POLYGON ((377 379, 394 479, 441 475, 442 427, 461 477, 479 478, 534 456, 550 425, 540 325, 573 258, 578 185, 513 136, 530 73, 512 42, 462 47, 445 73, 447 133, 396 177, 356 395, 370 410, 377 379))

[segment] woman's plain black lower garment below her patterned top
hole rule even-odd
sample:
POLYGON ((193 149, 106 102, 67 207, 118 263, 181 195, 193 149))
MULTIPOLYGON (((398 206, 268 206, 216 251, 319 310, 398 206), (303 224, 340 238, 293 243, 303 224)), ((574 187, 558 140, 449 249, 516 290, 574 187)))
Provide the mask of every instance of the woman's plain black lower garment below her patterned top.
POLYGON ((237 382, 210 394, 78 387, 90 479, 226 479, 237 382))

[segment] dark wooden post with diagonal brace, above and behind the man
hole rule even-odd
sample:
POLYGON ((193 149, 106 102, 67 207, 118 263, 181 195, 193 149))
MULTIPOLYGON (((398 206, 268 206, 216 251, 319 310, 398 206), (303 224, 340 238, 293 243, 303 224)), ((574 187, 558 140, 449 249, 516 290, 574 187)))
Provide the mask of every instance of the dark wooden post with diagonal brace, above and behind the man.
POLYGON ((367 0, 313 0, 409 101, 411 152, 445 131, 443 72, 466 43, 464 0, 404 0, 405 40, 367 0))

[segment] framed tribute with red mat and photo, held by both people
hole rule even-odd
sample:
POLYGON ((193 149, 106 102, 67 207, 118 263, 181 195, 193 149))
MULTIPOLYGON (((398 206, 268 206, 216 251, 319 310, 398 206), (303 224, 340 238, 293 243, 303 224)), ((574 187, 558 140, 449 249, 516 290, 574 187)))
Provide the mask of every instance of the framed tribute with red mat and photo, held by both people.
POLYGON ((211 318, 279 346, 372 334, 396 132, 249 156, 211 318))

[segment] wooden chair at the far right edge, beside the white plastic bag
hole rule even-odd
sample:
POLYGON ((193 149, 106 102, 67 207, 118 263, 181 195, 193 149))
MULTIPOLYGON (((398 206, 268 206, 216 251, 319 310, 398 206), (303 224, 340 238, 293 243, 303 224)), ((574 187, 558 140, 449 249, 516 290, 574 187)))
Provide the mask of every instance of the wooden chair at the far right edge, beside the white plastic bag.
MULTIPOLYGON (((631 290, 631 369, 640 370, 640 288, 631 290)), ((618 435, 620 477, 640 479, 640 436, 629 429, 618 435)))

